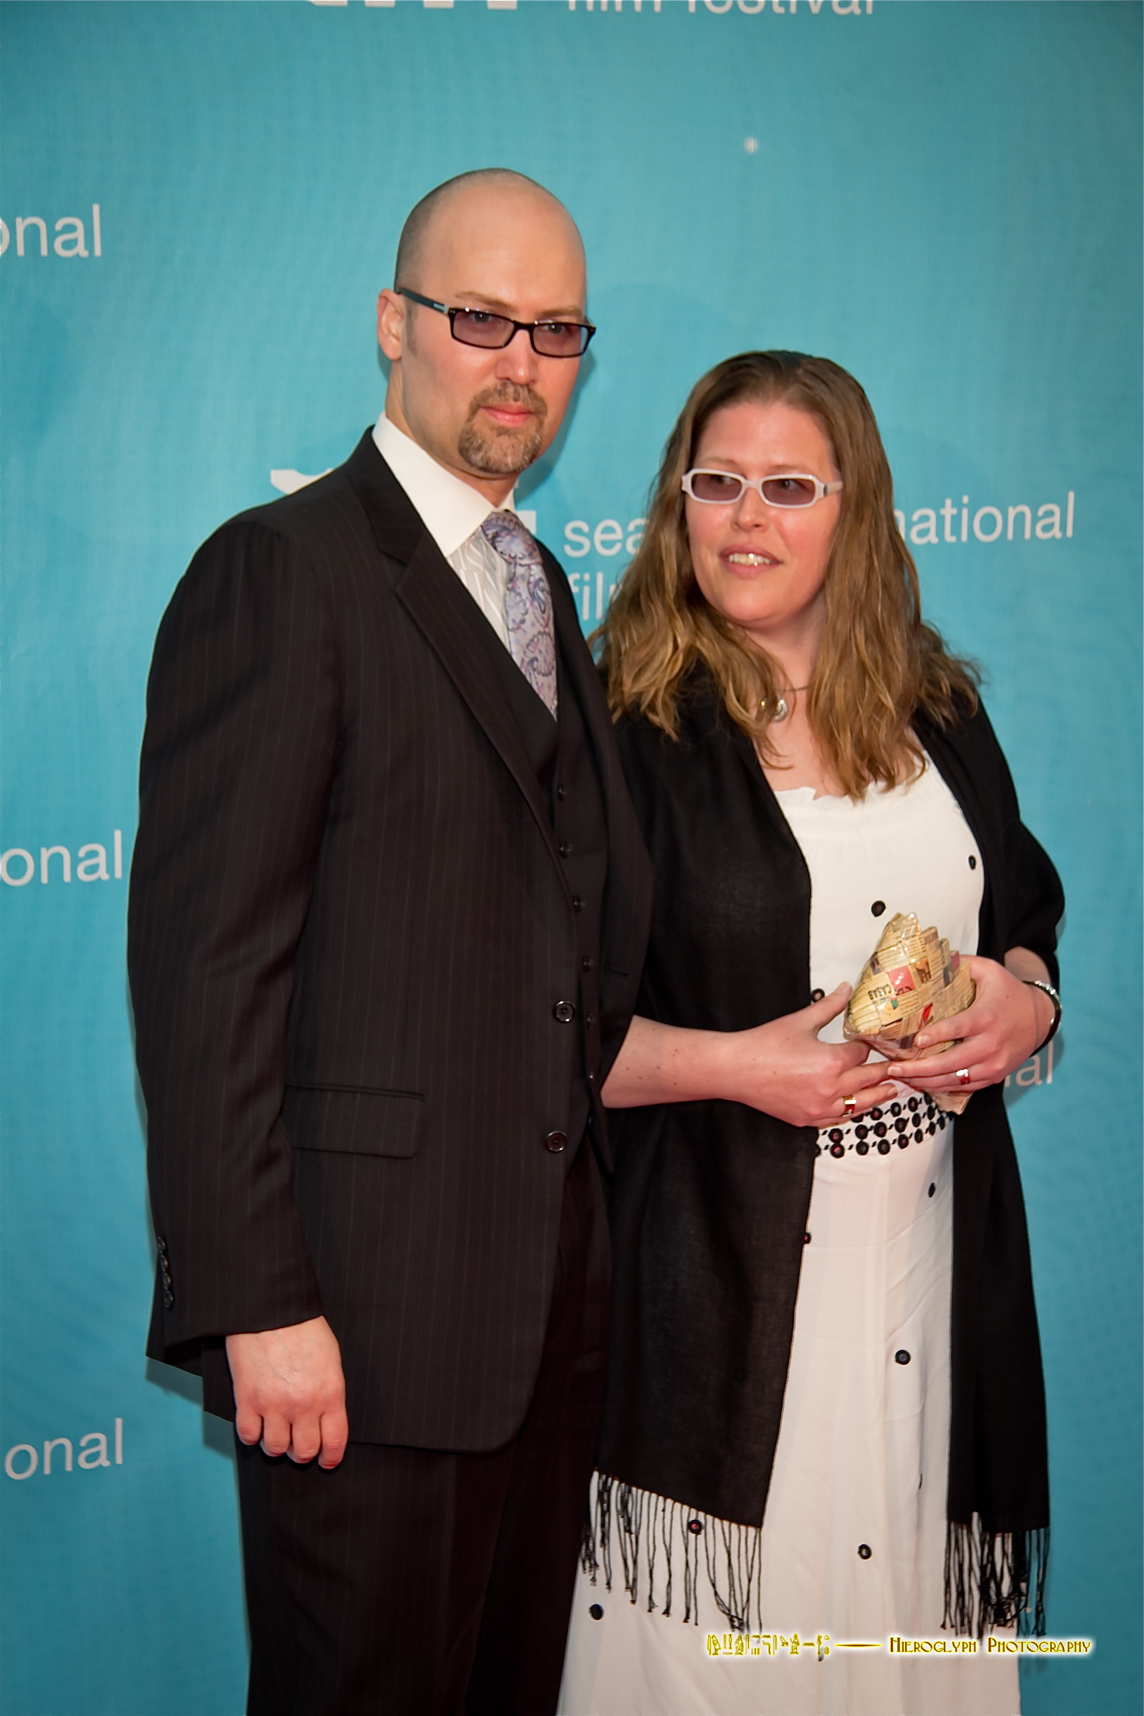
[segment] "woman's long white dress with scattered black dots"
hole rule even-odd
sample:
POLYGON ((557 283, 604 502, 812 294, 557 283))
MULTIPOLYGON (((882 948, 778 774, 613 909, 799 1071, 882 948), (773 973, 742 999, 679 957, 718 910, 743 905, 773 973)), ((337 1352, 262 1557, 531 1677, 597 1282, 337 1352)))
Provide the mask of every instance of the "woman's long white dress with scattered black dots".
MULTIPOLYGON (((931 764, 859 805, 811 788, 775 796, 811 877, 813 988, 852 983, 895 911, 976 952, 981 855, 931 764)), ((842 1021, 822 1038, 840 1042, 842 1021)), ((890 1634, 943 1637, 952 1143, 952 1122, 907 1090, 878 1121, 818 1134, 758 1539, 762 1630, 727 1632, 700 1536, 683 1618, 684 1532, 719 1522, 660 1508, 660 1539, 664 1519, 677 1538, 671 1615, 662 1579, 652 1611, 647 1580, 631 1601, 612 1541, 612 1589, 602 1570, 576 1580, 561 1716, 1017 1716, 1014 1656, 887 1649, 890 1634)), ((650 1517, 655 1498, 643 1500, 650 1517)))

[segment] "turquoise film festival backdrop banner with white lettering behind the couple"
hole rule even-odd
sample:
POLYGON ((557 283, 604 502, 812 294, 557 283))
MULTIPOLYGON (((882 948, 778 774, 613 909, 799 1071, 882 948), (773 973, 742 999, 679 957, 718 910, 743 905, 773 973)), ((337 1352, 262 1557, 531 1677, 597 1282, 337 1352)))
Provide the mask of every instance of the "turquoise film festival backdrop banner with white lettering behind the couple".
POLYGON ((1048 1373, 1031 1716, 1141 1709, 1141 7, 328 0, 0 7, 3 1716, 238 1716, 233 1464, 142 1357, 123 913, 144 681, 197 542, 352 450, 431 185, 508 165, 599 336, 523 506, 585 630, 695 378, 866 386, 930 616, 986 669, 1069 892, 1010 1083, 1048 1373))

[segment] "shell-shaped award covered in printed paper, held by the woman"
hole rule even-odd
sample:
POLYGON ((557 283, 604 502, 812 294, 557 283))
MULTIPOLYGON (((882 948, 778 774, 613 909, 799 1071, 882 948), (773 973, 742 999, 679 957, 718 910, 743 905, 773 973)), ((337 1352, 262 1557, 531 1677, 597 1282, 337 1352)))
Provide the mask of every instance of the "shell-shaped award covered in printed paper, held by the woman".
MULTIPOLYGON (((894 1060, 943 1054, 952 1043, 914 1048, 918 1031, 964 1012, 974 995, 976 983, 960 954, 950 952, 935 928, 919 930, 912 913, 897 911, 854 985, 842 1035, 894 1060)), ((962 1114, 969 1097, 942 1091, 933 1100, 947 1114, 962 1114)))

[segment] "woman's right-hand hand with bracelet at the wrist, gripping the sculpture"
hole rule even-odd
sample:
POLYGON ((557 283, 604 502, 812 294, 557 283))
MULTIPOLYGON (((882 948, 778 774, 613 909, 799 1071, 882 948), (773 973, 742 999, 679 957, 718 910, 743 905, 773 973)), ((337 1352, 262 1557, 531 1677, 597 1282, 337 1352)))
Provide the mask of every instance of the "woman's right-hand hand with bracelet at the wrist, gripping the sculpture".
POLYGON ((998 1085, 1039 1048, 1053 1026, 1055 1009, 1045 990, 1014 975, 1024 971, 1026 978, 1046 978, 1048 971, 1036 954, 1014 947, 1005 964, 976 956, 966 956, 964 963, 978 985, 972 1007, 918 1033, 919 1048, 950 1042, 957 1047, 924 1060, 894 1060, 887 1067, 890 1078, 918 1091, 974 1091, 998 1085), (969 1078, 957 1078, 959 1071, 969 1072, 969 1078))

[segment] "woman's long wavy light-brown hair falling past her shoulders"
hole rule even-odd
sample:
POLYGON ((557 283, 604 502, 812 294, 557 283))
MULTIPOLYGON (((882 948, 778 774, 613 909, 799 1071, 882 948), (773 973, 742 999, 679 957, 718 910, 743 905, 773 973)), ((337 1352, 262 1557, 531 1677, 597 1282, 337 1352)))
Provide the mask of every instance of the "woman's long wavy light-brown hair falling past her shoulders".
POLYGON ((825 628, 806 714, 839 786, 859 800, 921 767, 911 721, 948 726, 978 704, 972 662, 921 618, 918 570, 894 518, 894 482, 870 400, 844 369, 801 352, 743 352, 696 381, 664 448, 643 542, 595 631, 612 714, 643 714, 677 736, 683 681, 703 664, 731 719, 774 760, 777 664, 703 597, 688 547, 681 479, 715 412, 782 400, 830 441, 842 503, 825 578, 825 628))

